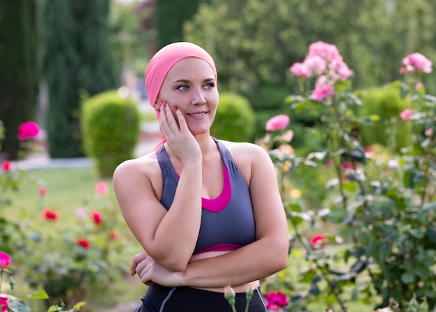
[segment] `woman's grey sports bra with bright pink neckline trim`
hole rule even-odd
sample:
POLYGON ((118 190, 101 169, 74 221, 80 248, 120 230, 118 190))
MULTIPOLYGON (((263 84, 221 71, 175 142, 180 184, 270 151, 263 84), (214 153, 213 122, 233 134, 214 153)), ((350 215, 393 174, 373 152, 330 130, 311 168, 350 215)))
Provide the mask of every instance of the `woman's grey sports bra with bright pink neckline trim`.
MULTIPOLYGON (((224 163, 224 188, 217 198, 202 198, 201 226, 194 254, 235 250, 256 240, 247 182, 233 162, 230 151, 218 140, 215 142, 224 163)), ((164 179, 161 203, 168 210, 173 203, 179 177, 163 145, 156 151, 156 156, 164 179)))

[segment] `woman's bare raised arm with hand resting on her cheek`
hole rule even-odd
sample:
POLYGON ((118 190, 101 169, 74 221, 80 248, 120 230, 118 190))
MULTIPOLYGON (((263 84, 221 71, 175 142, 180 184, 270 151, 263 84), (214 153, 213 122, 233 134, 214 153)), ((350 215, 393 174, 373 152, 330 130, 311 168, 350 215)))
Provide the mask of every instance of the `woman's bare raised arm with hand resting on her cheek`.
POLYGON ((160 176, 156 159, 127 161, 114 172, 114 190, 130 230, 156 262, 176 272, 192 256, 201 222, 201 151, 181 114, 178 120, 169 105, 161 109, 161 131, 182 164, 169 211, 153 188, 160 176))

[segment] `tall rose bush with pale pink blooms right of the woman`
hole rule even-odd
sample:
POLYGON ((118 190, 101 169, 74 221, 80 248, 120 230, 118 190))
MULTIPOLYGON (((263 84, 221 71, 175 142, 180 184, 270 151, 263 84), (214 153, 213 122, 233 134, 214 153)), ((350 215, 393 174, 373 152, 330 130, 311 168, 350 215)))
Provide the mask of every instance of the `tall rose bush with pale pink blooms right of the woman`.
MULTIPOLYGON (((319 148, 300 155, 281 135, 260 140, 277 167, 293 229, 290 261, 308 261, 298 273, 287 269, 267 279, 267 289, 279 288, 293 302, 286 311, 306 311, 309 302, 348 311, 357 300, 375 308, 393 301, 404 309, 415 295, 417 306, 436 305, 436 98, 420 80, 432 63, 414 53, 403 66, 403 80, 389 84, 412 103, 400 114, 412 124, 412 140, 399 153, 389 144, 361 144, 359 125, 377 117, 359 116, 365 91, 352 91, 352 70, 334 45, 313 43, 304 62, 290 68, 299 77, 299 94, 286 101, 292 111, 315 118, 310 131, 319 148), (316 211, 288 192, 298 184, 291 176, 303 167, 329 178, 329 195, 316 211), (322 235, 337 247, 332 253, 304 235, 320 223, 337 229, 322 235)), ((394 128, 396 119, 386 122, 394 128)))

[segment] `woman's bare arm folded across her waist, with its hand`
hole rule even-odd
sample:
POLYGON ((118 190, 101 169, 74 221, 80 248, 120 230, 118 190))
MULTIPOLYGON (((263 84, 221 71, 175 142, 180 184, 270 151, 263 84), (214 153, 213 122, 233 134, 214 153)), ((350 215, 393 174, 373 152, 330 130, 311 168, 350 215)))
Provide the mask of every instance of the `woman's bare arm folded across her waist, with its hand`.
POLYGON ((288 226, 277 186, 277 176, 265 151, 251 147, 250 192, 256 220, 257 240, 215 258, 189 262, 183 272, 169 272, 147 255, 132 260, 132 274, 139 273, 144 283, 154 281, 167 286, 222 287, 242 285, 265 278, 286 267, 288 226))

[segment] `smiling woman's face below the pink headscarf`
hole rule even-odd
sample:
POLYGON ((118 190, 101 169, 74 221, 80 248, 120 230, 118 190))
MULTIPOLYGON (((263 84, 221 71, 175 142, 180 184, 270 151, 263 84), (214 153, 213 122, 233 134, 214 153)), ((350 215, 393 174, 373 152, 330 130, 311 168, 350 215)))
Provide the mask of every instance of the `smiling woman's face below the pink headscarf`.
POLYGON ((218 89, 214 70, 196 57, 178 61, 166 74, 157 104, 167 102, 183 113, 193 135, 209 133, 218 105, 218 89))

